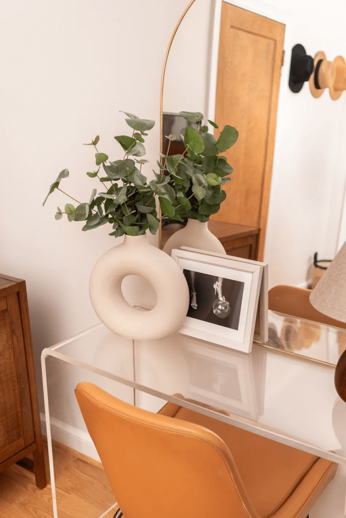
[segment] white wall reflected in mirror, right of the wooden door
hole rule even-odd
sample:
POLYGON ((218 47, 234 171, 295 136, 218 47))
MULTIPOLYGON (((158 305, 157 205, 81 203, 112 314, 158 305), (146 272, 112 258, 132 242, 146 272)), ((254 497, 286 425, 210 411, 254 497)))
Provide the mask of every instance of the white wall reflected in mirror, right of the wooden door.
POLYGON ((346 176, 346 95, 333 101, 328 91, 312 97, 308 84, 299 94, 287 87, 291 49, 323 50, 327 59, 346 55, 346 5, 271 0, 285 11, 285 65, 282 68, 265 259, 269 284, 306 280, 315 251, 333 258, 337 251, 346 176))

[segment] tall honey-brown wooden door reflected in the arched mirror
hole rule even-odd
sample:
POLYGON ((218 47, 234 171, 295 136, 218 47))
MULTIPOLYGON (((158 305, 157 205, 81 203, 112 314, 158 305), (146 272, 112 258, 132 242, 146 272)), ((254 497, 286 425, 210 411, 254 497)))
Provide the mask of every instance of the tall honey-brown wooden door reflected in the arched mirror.
MULTIPOLYGON (((215 122, 239 131, 224 154, 234 167, 211 219, 259 227, 262 261, 285 26, 222 2, 215 122)), ((220 130, 215 131, 218 136, 220 130)))

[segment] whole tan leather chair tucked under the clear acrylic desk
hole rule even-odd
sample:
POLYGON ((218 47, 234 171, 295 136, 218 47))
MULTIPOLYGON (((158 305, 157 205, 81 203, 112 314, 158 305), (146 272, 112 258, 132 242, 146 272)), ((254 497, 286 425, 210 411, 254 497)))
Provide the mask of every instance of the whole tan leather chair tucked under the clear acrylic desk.
POLYGON ((306 518, 337 465, 167 403, 75 390, 124 518, 306 518))

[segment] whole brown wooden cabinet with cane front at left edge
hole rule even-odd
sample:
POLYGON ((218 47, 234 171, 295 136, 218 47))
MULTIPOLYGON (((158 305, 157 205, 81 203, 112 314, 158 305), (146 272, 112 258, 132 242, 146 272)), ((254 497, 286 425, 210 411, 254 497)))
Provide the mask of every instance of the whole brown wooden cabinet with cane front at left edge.
POLYGON ((46 472, 25 281, 0 275, 0 471, 29 453, 36 485, 43 488, 46 472))

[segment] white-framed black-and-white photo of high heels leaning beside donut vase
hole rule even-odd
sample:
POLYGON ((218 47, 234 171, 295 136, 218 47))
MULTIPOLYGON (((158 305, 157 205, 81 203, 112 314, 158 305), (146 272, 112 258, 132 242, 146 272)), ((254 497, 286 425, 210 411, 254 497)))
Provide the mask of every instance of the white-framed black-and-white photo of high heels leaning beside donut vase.
POLYGON ((172 250, 190 291, 179 333, 251 352, 263 268, 227 255, 172 250))

